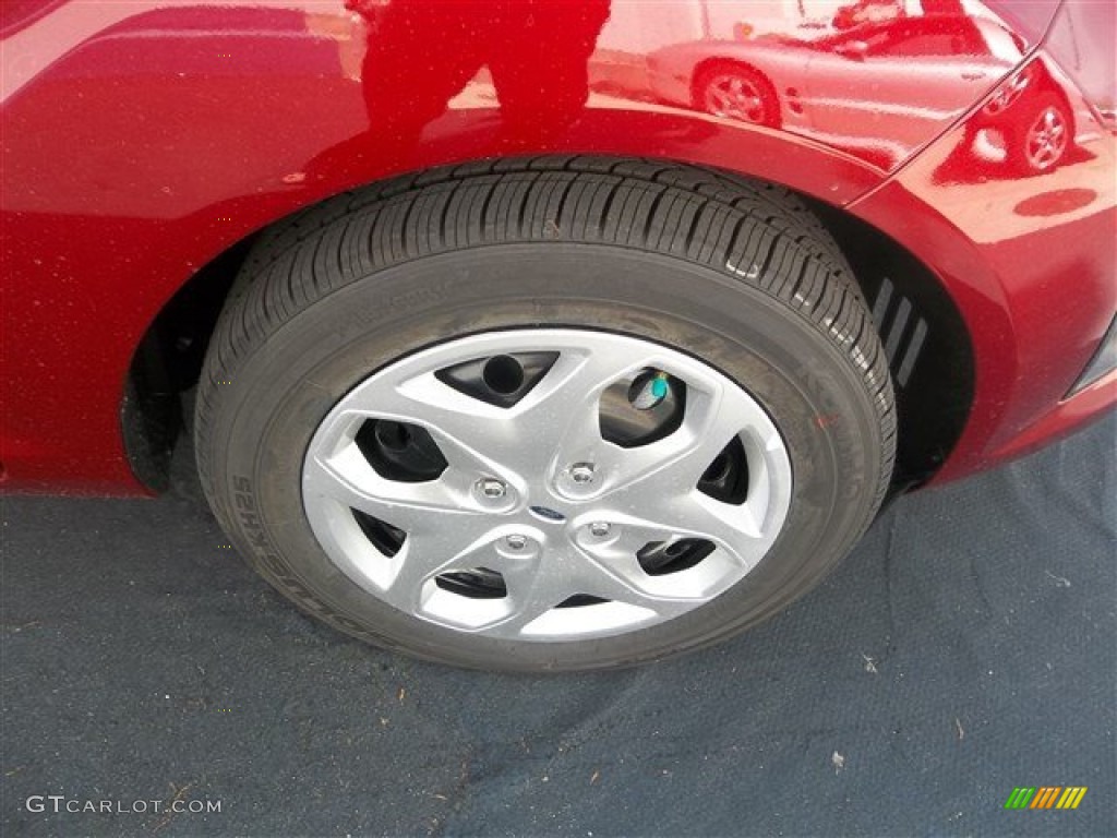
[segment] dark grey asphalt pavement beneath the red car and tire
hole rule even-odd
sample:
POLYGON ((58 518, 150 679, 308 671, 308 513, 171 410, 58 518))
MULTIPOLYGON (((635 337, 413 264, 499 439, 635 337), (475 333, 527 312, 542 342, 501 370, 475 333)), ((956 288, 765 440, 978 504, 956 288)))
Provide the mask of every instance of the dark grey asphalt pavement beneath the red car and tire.
POLYGON ((1109 417, 903 498, 765 625, 590 676, 317 626, 225 546, 185 449, 156 501, 4 498, 0 831, 1117 835, 1115 450, 1109 417))

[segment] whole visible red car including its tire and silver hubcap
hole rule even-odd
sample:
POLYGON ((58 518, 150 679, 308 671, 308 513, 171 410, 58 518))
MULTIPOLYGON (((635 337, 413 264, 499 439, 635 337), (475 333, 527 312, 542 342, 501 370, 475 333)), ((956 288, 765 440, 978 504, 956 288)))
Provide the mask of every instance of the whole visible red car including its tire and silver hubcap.
POLYGON ((0 6, 0 487, 156 492, 187 425, 306 611, 601 668, 1110 408, 1111 4, 713 6, 0 6))

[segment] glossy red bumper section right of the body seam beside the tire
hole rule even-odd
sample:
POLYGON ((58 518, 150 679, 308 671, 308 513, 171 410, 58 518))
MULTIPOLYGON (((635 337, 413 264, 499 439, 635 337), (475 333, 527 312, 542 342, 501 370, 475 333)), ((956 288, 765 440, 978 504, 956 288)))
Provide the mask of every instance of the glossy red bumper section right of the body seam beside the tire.
MULTIPOLYGON (((1034 67, 1061 76, 1043 53, 1034 67)), ((934 266, 968 326, 975 406, 941 480, 1032 450, 1117 401, 1113 375, 1063 401, 1117 308, 1117 142, 1069 80, 1059 89, 1076 125, 1059 165, 1020 177, 976 155, 978 108, 850 206, 934 266)))

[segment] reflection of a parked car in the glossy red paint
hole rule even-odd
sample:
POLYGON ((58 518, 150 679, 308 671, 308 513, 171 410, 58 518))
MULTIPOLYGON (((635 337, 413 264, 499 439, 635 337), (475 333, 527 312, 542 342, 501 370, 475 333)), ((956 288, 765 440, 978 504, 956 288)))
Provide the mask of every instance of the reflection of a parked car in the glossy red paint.
MULTIPOLYGON (((868 16, 811 40, 672 45, 648 66, 665 102, 782 127, 887 166, 1019 64, 1023 47, 984 18, 868 16), (910 84, 915 77, 920 84, 910 84)), ((982 114, 981 127, 997 132, 1025 171, 1057 165, 1072 142, 1066 96, 1041 65, 1006 82, 982 114)))

